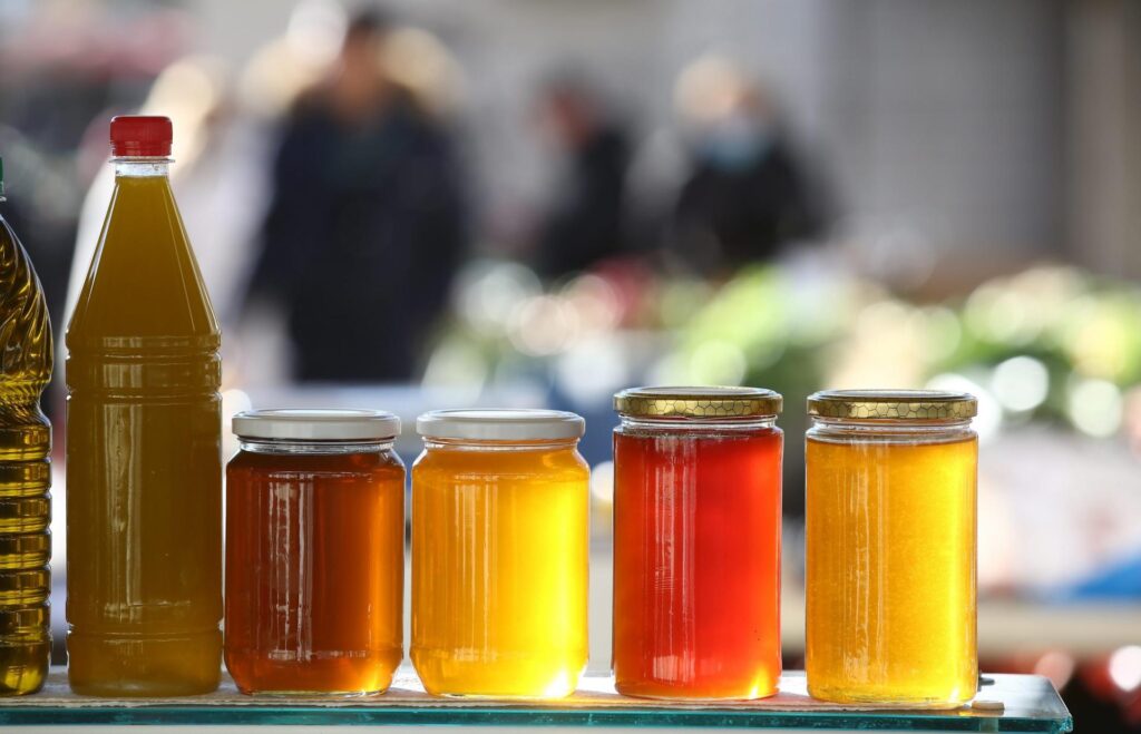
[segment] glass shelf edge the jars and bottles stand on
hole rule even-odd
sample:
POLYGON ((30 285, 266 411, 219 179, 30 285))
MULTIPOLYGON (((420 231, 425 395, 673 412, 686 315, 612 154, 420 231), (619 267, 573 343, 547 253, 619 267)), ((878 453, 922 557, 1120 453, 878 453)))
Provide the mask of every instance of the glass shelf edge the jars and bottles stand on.
POLYGON ((1066 704, 1039 676, 987 676, 974 706, 911 711, 814 701, 799 671, 786 672, 780 693, 770 699, 694 704, 629 699, 614 692, 613 678, 591 676, 583 678, 577 693, 557 702, 436 699, 423 692, 407 667, 397 672, 383 695, 337 700, 243 696, 228 677, 219 691, 203 696, 94 699, 71 693, 66 674, 52 670, 41 693, 0 701, 0 725, 32 724, 701 726, 1057 734, 1074 727, 1066 704))

